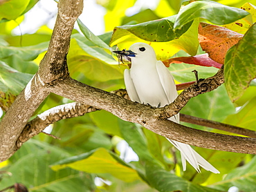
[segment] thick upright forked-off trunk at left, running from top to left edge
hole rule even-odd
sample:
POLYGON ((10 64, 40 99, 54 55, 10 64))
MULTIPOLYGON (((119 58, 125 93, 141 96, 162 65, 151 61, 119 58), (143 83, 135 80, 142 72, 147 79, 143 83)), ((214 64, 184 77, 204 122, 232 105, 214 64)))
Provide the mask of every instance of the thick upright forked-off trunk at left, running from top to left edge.
POLYGON ((82 0, 61 0, 48 52, 39 70, 10 106, 0 124, 0 162, 17 151, 16 141, 39 104, 48 96, 45 85, 68 76, 66 54, 71 31, 83 8, 82 0))

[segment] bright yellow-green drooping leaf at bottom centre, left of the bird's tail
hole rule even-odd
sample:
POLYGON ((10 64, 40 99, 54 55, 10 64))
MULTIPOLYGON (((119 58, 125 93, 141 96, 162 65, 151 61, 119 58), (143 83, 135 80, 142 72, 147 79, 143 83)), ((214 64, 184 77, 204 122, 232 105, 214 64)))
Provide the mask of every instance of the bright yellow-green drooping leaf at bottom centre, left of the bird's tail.
POLYGON ((51 168, 57 171, 68 166, 87 173, 111 173, 111 175, 125 182, 132 182, 140 178, 134 169, 122 160, 117 160, 117 158, 113 157, 105 148, 98 148, 95 151, 57 162, 51 168))

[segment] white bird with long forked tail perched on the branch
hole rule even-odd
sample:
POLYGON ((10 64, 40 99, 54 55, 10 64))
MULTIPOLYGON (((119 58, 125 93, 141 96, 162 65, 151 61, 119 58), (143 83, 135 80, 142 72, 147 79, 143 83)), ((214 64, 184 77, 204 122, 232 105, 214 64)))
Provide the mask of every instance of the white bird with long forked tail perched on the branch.
MULTIPOLYGON (((113 51, 122 57, 128 57, 131 68, 125 70, 125 86, 132 101, 140 104, 149 104, 154 107, 163 107, 176 99, 178 93, 174 78, 162 61, 156 59, 156 53, 152 46, 144 43, 133 44, 129 50, 113 51)), ((170 120, 179 123, 179 114, 170 117, 170 120)), ((183 171, 186 170, 187 160, 193 167, 201 172, 199 166, 212 173, 219 173, 194 149, 181 142, 169 140, 179 151, 183 171)))

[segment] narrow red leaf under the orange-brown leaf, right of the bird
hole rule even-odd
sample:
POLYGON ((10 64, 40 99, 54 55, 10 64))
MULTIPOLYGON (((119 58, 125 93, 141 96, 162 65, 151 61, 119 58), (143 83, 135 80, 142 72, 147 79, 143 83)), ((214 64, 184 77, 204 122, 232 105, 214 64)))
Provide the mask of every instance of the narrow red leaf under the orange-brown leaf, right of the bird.
POLYGON ((194 57, 175 57, 172 59, 167 59, 163 61, 163 64, 165 66, 169 67, 170 64, 180 64, 180 63, 186 63, 186 64, 194 64, 197 66, 206 66, 206 67, 215 67, 215 68, 221 68, 222 64, 217 63, 216 61, 213 61, 208 57, 208 54, 201 54, 196 55, 194 57))

